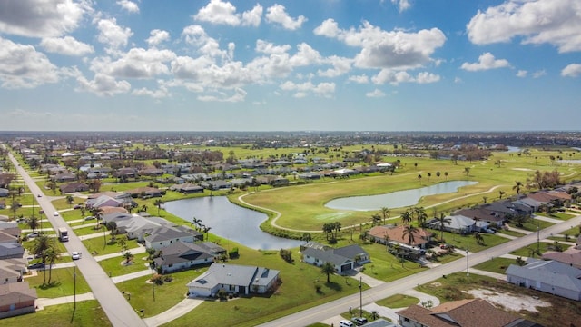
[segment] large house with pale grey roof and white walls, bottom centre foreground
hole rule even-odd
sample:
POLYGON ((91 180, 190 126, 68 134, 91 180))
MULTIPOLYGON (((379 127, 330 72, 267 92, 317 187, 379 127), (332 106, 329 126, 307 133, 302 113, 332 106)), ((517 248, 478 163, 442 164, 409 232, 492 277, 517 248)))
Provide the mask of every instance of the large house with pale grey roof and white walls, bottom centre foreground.
POLYGON ((278 285, 277 270, 237 264, 212 263, 202 275, 187 284, 190 297, 216 296, 221 289, 228 293, 263 294, 278 285))

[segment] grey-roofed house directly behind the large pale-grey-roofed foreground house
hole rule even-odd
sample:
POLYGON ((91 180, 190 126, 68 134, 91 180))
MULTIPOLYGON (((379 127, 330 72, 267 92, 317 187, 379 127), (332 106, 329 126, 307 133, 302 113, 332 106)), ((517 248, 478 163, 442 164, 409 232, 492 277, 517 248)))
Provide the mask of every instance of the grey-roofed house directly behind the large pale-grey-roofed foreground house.
POLYGON ((162 249, 162 255, 155 258, 158 272, 178 272, 201 264, 213 263, 226 250, 212 242, 185 243, 178 241, 162 249))

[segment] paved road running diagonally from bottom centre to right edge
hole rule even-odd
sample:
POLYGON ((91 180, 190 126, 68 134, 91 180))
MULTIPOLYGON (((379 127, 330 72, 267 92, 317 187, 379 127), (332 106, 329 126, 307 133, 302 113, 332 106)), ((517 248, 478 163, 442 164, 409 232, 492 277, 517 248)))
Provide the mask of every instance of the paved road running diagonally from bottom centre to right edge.
MULTIPOLYGON (((557 223, 549 226, 544 230, 539 231, 541 239, 547 238, 551 233, 561 233, 581 223, 581 215, 576 216, 566 222, 557 223)), ((404 293, 419 284, 431 282, 442 275, 448 275, 454 272, 466 271, 467 265, 471 267, 478 263, 483 263, 491 258, 496 258, 502 254, 520 249, 528 244, 537 242, 537 233, 529 233, 523 237, 497 245, 479 253, 471 253, 468 255, 468 260, 461 259, 452 263, 439 265, 430 270, 419 272, 409 277, 399 279, 394 282, 386 282, 377 287, 369 289, 362 293, 363 304, 367 305, 371 302, 376 302, 394 294, 404 293)), ((468 270, 469 272, 469 270, 468 270)), ((337 316, 342 312, 349 311, 349 307, 359 307, 359 293, 339 300, 321 304, 319 306, 310 308, 308 310, 297 312, 281 319, 261 324, 261 327, 300 327, 307 326, 315 322, 323 322, 330 317, 337 316)))

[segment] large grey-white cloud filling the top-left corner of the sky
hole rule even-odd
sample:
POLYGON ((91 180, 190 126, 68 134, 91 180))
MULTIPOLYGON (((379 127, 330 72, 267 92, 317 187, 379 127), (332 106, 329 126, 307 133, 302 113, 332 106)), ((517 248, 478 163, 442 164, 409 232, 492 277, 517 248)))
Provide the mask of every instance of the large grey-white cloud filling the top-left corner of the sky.
POLYGON ((83 15, 91 11, 85 1, 2 1, 0 32, 28 37, 61 36, 74 31, 83 15))

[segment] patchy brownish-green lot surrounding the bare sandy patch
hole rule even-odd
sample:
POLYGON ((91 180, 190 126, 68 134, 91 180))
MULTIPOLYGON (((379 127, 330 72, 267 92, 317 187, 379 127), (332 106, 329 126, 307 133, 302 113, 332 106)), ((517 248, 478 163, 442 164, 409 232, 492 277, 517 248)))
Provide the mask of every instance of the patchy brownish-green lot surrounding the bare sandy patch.
POLYGON ((545 292, 537 292, 524 287, 518 287, 494 278, 470 274, 469 281, 463 272, 449 274, 446 278, 428 282, 416 288, 419 292, 427 292, 437 296, 441 302, 456 301, 471 298, 467 292, 473 289, 486 289, 494 292, 507 292, 513 295, 535 296, 540 300, 550 302, 550 307, 537 307, 537 312, 521 310, 516 312, 528 320, 544 326, 570 326, 581 321, 581 302, 567 300, 545 292))

